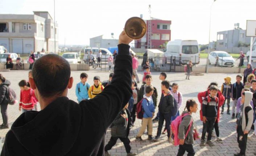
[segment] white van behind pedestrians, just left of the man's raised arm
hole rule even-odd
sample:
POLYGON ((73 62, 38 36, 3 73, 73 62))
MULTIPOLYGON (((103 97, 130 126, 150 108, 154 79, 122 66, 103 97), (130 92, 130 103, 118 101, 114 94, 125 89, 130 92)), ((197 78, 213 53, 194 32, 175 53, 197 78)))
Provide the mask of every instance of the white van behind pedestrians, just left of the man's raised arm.
POLYGON ((92 56, 94 56, 97 59, 96 55, 99 53, 99 50, 101 50, 102 52, 102 61, 107 62, 108 57, 112 55, 112 53, 106 48, 92 48, 92 47, 85 48, 84 60, 88 58, 88 54, 90 54, 90 51, 92 51, 92 56))

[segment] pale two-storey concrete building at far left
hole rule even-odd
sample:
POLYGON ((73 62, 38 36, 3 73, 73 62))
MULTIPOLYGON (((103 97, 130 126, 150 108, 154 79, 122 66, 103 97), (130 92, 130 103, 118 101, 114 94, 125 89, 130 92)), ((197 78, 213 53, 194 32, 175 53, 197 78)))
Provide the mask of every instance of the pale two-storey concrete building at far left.
MULTIPOLYGON (((55 23, 58 51, 58 24, 55 23)), ((30 51, 54 52, 54 20, 47 11, 34 14, 0 14, 0 45, 19 54, 30 51)))

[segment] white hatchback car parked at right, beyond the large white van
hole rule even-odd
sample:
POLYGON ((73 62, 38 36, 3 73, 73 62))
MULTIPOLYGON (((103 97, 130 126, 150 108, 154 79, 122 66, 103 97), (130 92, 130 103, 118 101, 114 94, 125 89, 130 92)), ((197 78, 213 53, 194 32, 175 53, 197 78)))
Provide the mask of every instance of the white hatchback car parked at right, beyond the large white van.
POLYGON ((208 60, 209 64, 215 64, 217 56, 219 57, 219 65, 220 66, 222 66, 222 67, 228 67, 228 66, 234 67, 235 66, 234 58, 225 51, 210 52, 209 60, 208 60))

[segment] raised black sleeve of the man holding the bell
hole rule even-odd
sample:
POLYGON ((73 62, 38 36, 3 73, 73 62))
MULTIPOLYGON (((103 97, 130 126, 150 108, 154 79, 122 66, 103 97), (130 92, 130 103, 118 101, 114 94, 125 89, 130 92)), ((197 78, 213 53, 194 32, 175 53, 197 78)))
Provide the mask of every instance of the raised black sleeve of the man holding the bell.
POLYGON ((90 110, 94 118, 101 118, 106 130, 132 96, 132 57, 129 48, 129 45, 118 45, 119 53, 116 55, 111 84, 96 97, 80 103, 81 107, 90 110))

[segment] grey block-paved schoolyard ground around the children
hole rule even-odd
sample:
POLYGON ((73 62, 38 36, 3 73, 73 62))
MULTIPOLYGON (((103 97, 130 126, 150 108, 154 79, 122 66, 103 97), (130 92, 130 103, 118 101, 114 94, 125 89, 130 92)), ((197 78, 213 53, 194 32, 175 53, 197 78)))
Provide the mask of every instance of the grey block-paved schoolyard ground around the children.
MULTIPOLYGON (((75 78, 75 83, 79 81, 79 75, 81 71, 73 71, 71 74, 75 78)), ((107 80, 109 72, 99 72, 97 71, 87 71, 89 78, 88 82, 92 84, 93 76, 99 75, 102 80, 107 80)), ((20 89, 18 87, 18 82, 22 79, 28 79, 28 71, 11 71, 11 72, 2 72, 2 74, 11 81, 11 87, 15 90, 16 93, 20 93, 20 89)), ((153 75, 153 85, 157 88, 158 94, 160 94, 160 80, 158 79, 159 73, 154 72, 153 75)), ((193 98, 197 100, 198 92, 201 92, 207 88, 211 81, 217 81, 219 84, 219 88, 223 83, 223 79, 226 76, 232 77, 232 82, 235 80, 236 74, 214 74, 209 73, 205 74, 204 76, 191 76, 190 80, 185 80, 184 73, 168 73, 167 79, 169 81, 177 82, 179 84, 179 90, 183 93, 183 105, 181 109, 183 110, 185 107, 185 101, 193 98)), ((142 79, 142 73, 139 74, 140 79, 142 79)), ((75 97, 75 88, 71 88, 68 93, 68 97, 71 100, 76 100, 75 97)), ((159 99, 159 98, 158 98, 159 99)), ((198 106, 200 107, 200 106, 198 106)), ((226 109, 226 107, 225 107, 226 109)), ((21 114, 18 111, 18 105, 9 105, 8 106, 8 115, 9 115, 9 126, 15 121, 15 119, 21 114)), ((199 128, 199 131, 202 131, 202 122, 199 119, 199 110, 196 114, 193 114, 194 121, 199 128)), ((0 123, 2 119, 0 117, 0 123)), ((167 135, 161 135, 160 142, 149 142, 146 141, 145 143, 138 143, 135 142, 135 136, 139 131, 141 125, 141 120, 137 119, 135 123, 135 127, 132 128, 129 138, 131 139, 131 146, 132 151, 136 152, 140 156, 153 156, 153 155, 177 155, 178 147, 174 147, 173 145, 169 144, 167 141, 167 135)), ((153 136, 156 135, 158 123, 154 123, 153 125, 153 136)), ((235 119, 231 119, 230 115, 227 115, 226 112, 220 117, 220 136, 222 137, 224 143, 215 143, 216 146, 214 147, 200 147, 199 140, 195 142, 194 148, 197 152, 196 155, 200 156, 232 156, 234 153, 239 151, 238 143, 236 142, 236 131, 235 131, 235 119)), ((8 130, 0 130, 0 136, 4 137, 8 130)), ((110 130, 107 132, 106 136, 106 143, 110 139, 110 130)), ((143 139, 146 139, 147 136, 143 135, 143 139)), ((256 136, 252 136, 248 139, 247 143, 247 155, 252 156, 253 152, 256 152, 256 136)), ((126 155, 125 148, 123 143, 120 141, 117 142, 116 146, 109 151, 112 156, 120 156, 126 155)))

